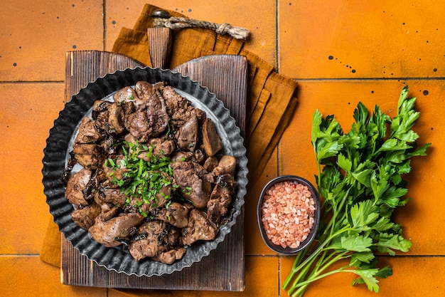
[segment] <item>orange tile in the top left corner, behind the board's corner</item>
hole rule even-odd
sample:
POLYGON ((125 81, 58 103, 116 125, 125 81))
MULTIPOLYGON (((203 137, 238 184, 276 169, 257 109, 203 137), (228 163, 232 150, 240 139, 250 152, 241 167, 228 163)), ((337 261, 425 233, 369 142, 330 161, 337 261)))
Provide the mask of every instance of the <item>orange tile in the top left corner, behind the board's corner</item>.
POLYGON ((104 49, 103 2, 1 1, 1 81, 61 81, 65 52, 104 49))

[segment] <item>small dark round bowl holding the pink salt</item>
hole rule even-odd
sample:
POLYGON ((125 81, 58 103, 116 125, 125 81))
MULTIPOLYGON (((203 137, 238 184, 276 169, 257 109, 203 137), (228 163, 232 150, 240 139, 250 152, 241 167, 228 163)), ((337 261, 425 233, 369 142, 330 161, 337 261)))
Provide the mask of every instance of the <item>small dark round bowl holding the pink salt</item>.
POLYGON ((274 179, 270 180, 264 186, 261 194, 259 195, 259 201, 258 201, 258 205, 257 205, 257 221, 258 221, 259 231, 261 233, 262 239, 263 239, 264 243, 269 247, 269 249, 272 249, 272 251, 275 251, 275 252, 277 252, 279 254, 283 254, 283 255, 292 255, 292 254, 298 253, 299 251, 302 251, 303 249, 306 249, 306 247, 308 247, 311 244, 311 242, 313 241, 313 239, 315 238, 315 235, 316 235, 317 229, 318 229, 318 224, 320 223, 320 199, 318 197, 316 188, 313 187, 313 185, 310 182, 308 182, 306 179, 304 179, 302 177, 297 177, 295 175, 283 175, 281 177, 275 177, 274 179), (309 192, 311 192, 313 200, 315 202, 315 204, 314 204, 315 212, 314 212, 313 226, 311 228, 311 231, 310 231, 309 235, 307 236, 307 238, 304 241, 301 241, 301 244, 296 248, 291 248, 291 247, 283 248, 282 246, 277 246, 276 244, 273 244, 272 241, 270 241, 267 238, 266 231, 264 230, 264 227, 263 227, 263 224, 261 221, 261 219, 262 219, 261 209, 262 209, 264 195, 267 193, 267 191, 274 184, 277 184, 279 182, 286 182, 286 181, 298 182, 299 184, 303 184, 304 186, 308 187, 309 192))

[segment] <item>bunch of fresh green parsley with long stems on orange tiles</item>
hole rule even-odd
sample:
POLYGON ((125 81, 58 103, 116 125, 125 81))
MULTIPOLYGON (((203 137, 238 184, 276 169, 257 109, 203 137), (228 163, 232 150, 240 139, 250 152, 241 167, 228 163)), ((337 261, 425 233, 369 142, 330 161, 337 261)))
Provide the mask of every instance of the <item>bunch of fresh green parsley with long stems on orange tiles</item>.
POLYGON ((313 114, 311 143, 324 202, 312 249, 296 256, 284 282, 289 295, 302 296, 309 283, 338 272, 355 273, 353 285, 365 283, 378 292, 377 278, 391 276, 392 269, 377 268, 375 252, 393 256, 412 246, 392 213, 409 200, 402 177, 411 172, 411 157, 426 155, 431 145, 417 146, 419 135, 412 127, 420 114, 415 101, 405 86, 392 119, 377 105, 370 114, 358 103, 347 134, 333 115, 323 118, 318 110, 313 114), (350 259, 349 264, 329 270, 342 259, 350 259))

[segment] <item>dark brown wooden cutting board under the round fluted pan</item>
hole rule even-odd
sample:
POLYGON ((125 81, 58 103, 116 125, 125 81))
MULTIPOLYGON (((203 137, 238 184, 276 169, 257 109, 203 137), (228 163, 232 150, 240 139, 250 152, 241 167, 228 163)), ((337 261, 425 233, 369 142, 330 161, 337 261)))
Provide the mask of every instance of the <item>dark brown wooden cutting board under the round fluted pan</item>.
MULTIPOLYGON (((118 53, 72 51, 66 55, 65 100, 95 78, 142 66, 118 53)), ((207 56, 173 69, 190 76, 223 100, 245 132, 247 61, 242 56, 207 56)), ((191 267, 162 276, 127 276, 89 261, 62 236, 61 281, 65 285, 166 290, 243 291, 245 288, 244 208, 218 248, 191 267)))

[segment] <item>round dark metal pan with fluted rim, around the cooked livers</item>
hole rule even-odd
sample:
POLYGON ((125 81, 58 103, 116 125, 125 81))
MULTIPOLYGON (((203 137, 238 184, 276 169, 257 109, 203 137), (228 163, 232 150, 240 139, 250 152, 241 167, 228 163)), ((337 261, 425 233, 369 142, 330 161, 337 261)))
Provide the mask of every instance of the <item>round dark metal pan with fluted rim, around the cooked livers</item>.
MULTIPOLYGON (((210 93, 191 78, 173 73, 160 68, 128 68, 124 71, 116 71, 97 78, 82 88, 79 93, 73 95, 70 102, 60 111, 58 118, 46 140, 43 150, 43 186, 46 202, 53 214, 54 221, 60 231, 73 246, 98 265, 119 273, 127 273, 136 276, 160 276, 164 273, 181 271, 208 256, 210 251, 216 249, 236 222, 244 204, 247 186, 247 157, 244 140, 240 136, 240 129, 235 124, 235 119, 230 116, 230 111, 225 108, 222 101, 210 93), (174 264, 162 264, 150 259, 134 261, 128 251, 119 248, 107 248, 91 238, 90 234, 77 226, 71 219, 74 207, 65 199, 65 185, 60 177, 69 159, 70 150, 73 149, 73 140, 85 115, 90 115, 95 100, 112 100, 112 95, 121 88, 134 86, 137 81, 145 80, 149 83, 165 81, 171 85, 183 97, 191 100, 196 108, 205 110, 208 118, 214 121, 218 133, 223 140, 224 153, 233 155, 237 159, 237 171, 235 179, 239 183, 235 197, 232 199, 232 212, 225 219, 227 224, 220 226, 218 235, 213 241, 202 241, 188 246, 183 259, 174 264)), ((76 171, 78 169, 74 169, 76 171)))

